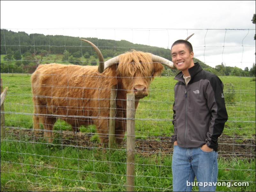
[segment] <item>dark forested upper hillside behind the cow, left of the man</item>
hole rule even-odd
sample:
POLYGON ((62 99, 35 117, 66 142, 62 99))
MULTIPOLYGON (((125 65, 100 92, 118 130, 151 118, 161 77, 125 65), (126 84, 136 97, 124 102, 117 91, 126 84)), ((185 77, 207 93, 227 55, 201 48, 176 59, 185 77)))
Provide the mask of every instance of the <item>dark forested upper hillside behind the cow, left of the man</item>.
MULTIPOLYGON (((1 29, 1 55, 7 54, 6 50, 10 48, 12 51, 20 50, 21 54, 26 52, 34 53, 37 50, 50 51, 50 54, 63 54, 65 50, 73 54, 81 51, 83 54, 88 52, 94 55, 94 49, 86 42, 81 42, 79 37, 63 36, 63 35, 43 35, 38 33, 27 34, 25 32, 12 32, 1 29)), ((170 49, 157 48, 148 45, 133 44, 129 41, 106 40, 90 37, 81 37, 94 43, 108 57, 120 55, 131 49, 149 52, 170 60, 170 49)), ((104 54, 103 54, 104 53, 104 54)))

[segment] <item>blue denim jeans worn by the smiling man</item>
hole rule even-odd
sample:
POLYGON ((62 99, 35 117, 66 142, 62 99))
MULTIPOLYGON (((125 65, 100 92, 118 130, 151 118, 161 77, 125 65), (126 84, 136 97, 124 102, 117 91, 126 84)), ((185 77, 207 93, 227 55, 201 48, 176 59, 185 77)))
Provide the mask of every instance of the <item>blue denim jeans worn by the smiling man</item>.
POLYGON ((172 156, 173 191, 215 191, 218 176, 218 153, 174 145, 172 156), (196 177, 197 182, 194 181, 196 177), (212 185, 212 186, 209 186, 212 185), (214 186, 215 185, 215 186, 214 186))

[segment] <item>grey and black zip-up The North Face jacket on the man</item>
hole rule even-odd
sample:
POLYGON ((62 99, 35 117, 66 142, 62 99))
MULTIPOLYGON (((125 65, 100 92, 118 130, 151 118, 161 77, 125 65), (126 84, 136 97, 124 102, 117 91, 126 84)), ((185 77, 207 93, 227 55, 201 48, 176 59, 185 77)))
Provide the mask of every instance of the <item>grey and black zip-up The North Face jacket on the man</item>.
POLYGON ((171 141, 185 148, 208 147, 218 151, 218 137, 228 120, 223 95, 223 83, 216 75, 205 71, 199 63, 188 69, 191 80, 185 84, 183 73, 174 79, 173 125, 171 141))

